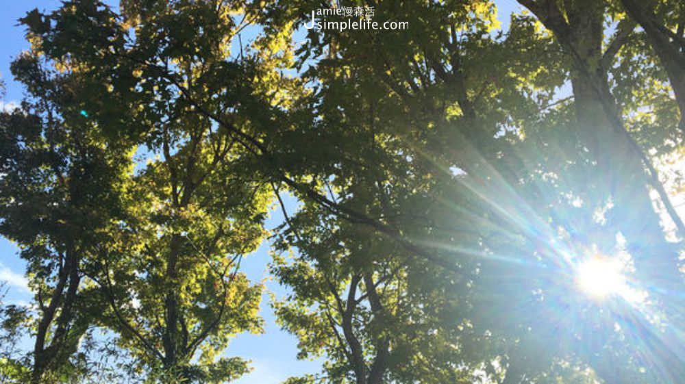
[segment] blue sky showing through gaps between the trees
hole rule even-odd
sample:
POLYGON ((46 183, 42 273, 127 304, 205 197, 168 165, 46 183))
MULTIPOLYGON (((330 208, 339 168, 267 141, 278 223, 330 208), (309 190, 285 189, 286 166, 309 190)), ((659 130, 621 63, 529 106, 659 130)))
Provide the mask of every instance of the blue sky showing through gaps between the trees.
MULTIPOLYGON (((116 4, 115 0, 107 1, 116 4)), ((508 27, 509 14, 518 10, 515 0, 496 0, 499 6, 499 20, 503 29, 508 27)), ((5 83, 5 94, 0 99, 0 108, 4 109, 18 104, 23 97, 23 88, 12 79, 10 63, 13 58, 29 48, 24 38, 24 29, 18 25, 18 18, 26 12, 38 8, 39 10, 53 10, 58 8, 57 0, 0 0, 0 79, 5 83)), ((294 199, 286 199, 286 206, 290 210, 297 207, 294 199)), ((279 209, 275 209, 266 221, 266 227, 273 229, 283 221, 279 209)), ((269 244, 264 243, 253 254, 242 261, 242 271, 252 281, 263 281, 267 291, 277 297, 284 297, 287 290, 275 281, 269 281, 266 265, 269 262, 269 244)), ((25 263, 18 257, 18 248, 5 238, 0 237, 0 281, 8 283, 7 303, 24 304, 32 299, 26 280, 23 277, 25 263)), ((229 345, 227 356, 240 356, 252 361, 253 371, 236 384, 264 384, 279 383, 289 376, 299 376, 306 373, 315 374, 321 368, 321 360, 299 361, 297 355, 297 339, 295 336, 282 331, 275 321, 275 316, 269 306, 269 296, 264 295, 261 315, 264 318, 265 333, 262 335, 238 335, 229 345)))

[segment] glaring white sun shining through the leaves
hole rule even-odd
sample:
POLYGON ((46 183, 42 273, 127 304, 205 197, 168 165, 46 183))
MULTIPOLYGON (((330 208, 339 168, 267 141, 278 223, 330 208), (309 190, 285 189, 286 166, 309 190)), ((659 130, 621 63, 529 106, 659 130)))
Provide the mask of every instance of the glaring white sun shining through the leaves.
POLYGON ((618 260, 594 257, 583 261, 577 268, 577 285, 593 298, 626 296, 630 292, 623 266, 618 260))

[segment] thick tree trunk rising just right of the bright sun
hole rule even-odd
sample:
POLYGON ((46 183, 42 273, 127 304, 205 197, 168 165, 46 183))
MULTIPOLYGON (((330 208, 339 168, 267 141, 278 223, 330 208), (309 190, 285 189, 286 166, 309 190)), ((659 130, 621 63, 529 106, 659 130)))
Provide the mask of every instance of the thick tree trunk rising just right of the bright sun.
MULTIPOLYGON (((660 194, 671 219, 682 231, 682 220, 673 209, 669 197, 664 192, 649 158, 636 140, 627 132, 623 123, 621 105, 617 105, 609 83, 609 69, 612 62, 627 41, 635 27, 631 20, 618 22, 616 34, 603 49, 603 25, 611 10, 612 3, 607 1, 569 1, 563 4, 554 1, 520 1, 530 9, 540 21, 551 30, 564 52, 573 62, 571 73, 574 104, 577 116, 577 134, 590 153, 596 167, 589 170, 595 175, 593 197, 595 204, 612 201, 610 227, 613 232, 620 231, 625 236, 627 251, 634 259, 636 276, 645 285, 658 287, 651 295, 665 308, 671 303, 680 303, 679 295, 673 292, 682 290, 682 277, 679 272, 678 252, 673 244, 664 238, 660 227, 660 217, 654 211, 648 185, 660 194), (607 151, 606 143, 611 143, 607 151), (664 295, 664 292, 668 294, 664 295)), ((662 128, 663 129, 663 128, 662 128)), ((603 241, 613 242, 614 235, 603 241)), ((630 305, 624 311, 632 312, 630 305)), ((680 314, 669 311, 669 322, 677 324, 680 314)), ((636 321, 640 314, 634 313, 636 321)), ((639 327, 639 326, 638 326, 639 327)), ((649 329, 649 324, 642 327, 649 329)), ((645 331, 645 333, 649 333, 645 331)), ((651 351, 662 359, 675 355, 683 359, 682 350, 677 344, 669 343, 671 337, 659 332, 651 335, 651 351), (656 339, 656 340, 654 340, 656 339)), ((671 380, 682 377, 681 364, 667 368, 671 380)), ((597 369, 601 369, 597 367, 597 369)), ((608 372, 605 379, 617 378, 608 372)))

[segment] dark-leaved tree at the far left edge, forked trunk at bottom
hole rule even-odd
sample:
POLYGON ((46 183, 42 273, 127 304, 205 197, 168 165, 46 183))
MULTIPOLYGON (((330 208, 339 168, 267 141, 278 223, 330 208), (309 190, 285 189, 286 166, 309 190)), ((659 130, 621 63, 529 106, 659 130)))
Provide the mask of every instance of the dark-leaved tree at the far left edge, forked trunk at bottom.
POLYGON ((0 230, 21 245, 36 292, 31 375, 37 382, 76 374, 75 350, 102 309, 92 287, 84 287, 84 265, 121 215, 130 159, 125 147, 105 146, 79 114, 71 74, 51 73, 30 55, 12 71, 40 95, 0 116, 0 230))

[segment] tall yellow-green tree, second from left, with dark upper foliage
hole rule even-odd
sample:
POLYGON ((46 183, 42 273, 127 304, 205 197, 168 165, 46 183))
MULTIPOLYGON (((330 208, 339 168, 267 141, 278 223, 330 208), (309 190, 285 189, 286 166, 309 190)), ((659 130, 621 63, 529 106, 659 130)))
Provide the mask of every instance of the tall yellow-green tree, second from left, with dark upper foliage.
POLYGON ((79 271, 97 292, 104 313, 98 325, 119 334, 132 372, 151 382, 232 380, 247 372, 247 362, 219 353, 231 335, 261 329, 261 287, 250 286, 238 267, 264 235, 268 190, 245 159, 249 151, 197 104, 250 125, 241 116, 258 107, 249 94, 259 92, 251 82, 262 74, 251 59, 227 60, 229 37, 244 27, 233 18, 239 10, 238 3, 132 2, 119 16, 75 1, 23 19, 36 54, 75 78, 70 107, 80 108, 79 118, 98 128, 108 148, 121 140, 126 164, 136 148, 162 157, 127 169, 116 195, 121 212, 97 235, 88 268, 79 271), (75 36, 79 31, 87 36, 75 36), (188 44, 198 38, 201 47, 188 44), (211 77, 233 81, 212 86, 211 77))

